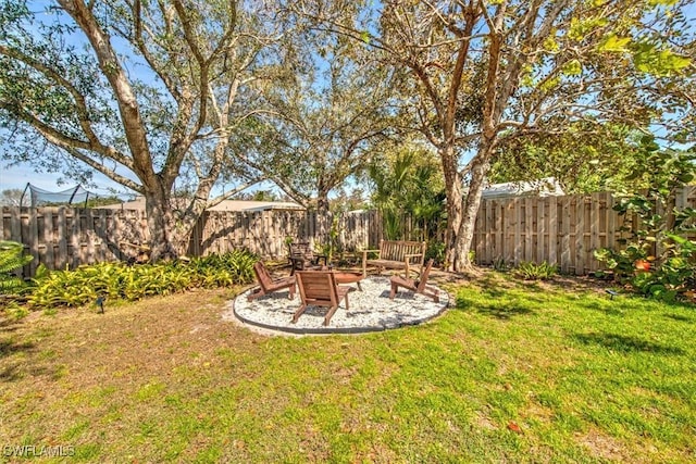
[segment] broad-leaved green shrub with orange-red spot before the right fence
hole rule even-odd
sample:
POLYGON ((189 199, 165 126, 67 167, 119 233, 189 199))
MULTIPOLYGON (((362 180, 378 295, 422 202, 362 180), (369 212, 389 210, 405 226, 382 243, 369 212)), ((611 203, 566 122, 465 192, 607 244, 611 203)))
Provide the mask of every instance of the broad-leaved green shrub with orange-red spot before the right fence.
POLYGON ((634 173, 635 178, 647 179, 647 188, 617 193, 613 206, 624 218, 622 231, 630 238, 620 240, 621 250, 595 251, 617 281, 644 296, 672 301, 696 291, 696 241, 688 238, 696 230, 696 210, 675 208, 676 191, 696 177, 694 160, 695 153, 648 145, 645 165, 634 173))

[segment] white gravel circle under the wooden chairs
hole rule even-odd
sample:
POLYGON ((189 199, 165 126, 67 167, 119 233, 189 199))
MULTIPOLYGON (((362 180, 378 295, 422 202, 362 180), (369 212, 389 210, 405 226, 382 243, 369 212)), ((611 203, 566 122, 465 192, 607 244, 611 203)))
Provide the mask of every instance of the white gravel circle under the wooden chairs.
POLYGON ((294 300, 289 300, 286 290, 247 301, 253 290, 250 288, 227 303, 223 319, 288 334, 361 334, 421 324, 440 314, 449 304, 449 294, 442 289, 438 303, 403 289, 391 301, 388 278, 366 277, 360 285, 362 291, 355 284, 349 286, 350 310, 346 311, 345 302, 341 302, 326 327, 323 323, 328 309, 311 305, 297 324, 290 323, 301 302, 299 291, 294 300))

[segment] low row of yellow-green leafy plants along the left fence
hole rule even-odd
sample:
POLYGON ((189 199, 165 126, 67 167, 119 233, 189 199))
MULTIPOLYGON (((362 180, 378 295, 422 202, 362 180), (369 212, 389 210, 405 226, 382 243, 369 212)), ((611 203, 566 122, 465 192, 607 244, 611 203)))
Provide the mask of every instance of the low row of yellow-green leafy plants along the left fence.
POLYGON ((41 268, 28 301, 34 308, 80 306, 95 302, 99 297, 135 301, 192 288, 248 284, 253 279, 253 263, 257 260, 248 251, 236 250, 189 261, 135 266, 99 263, 79 266, 75 271, 47 272, 41 268))

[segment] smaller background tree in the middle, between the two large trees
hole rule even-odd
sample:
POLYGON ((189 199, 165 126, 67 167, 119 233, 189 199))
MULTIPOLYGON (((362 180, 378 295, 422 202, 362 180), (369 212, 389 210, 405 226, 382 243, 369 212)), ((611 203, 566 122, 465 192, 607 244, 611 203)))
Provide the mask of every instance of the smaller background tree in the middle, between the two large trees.
POLYGON ((298 30, 284 46, 301 65, 287 79, 268 83, 268 111, 250 118, 246 136, 233 143, 245 153, 244 163, 316 209, 325 234, 330 193, 364 168, 395 133, 395 77, 364 43, 318 30, 311 21, 298 30))

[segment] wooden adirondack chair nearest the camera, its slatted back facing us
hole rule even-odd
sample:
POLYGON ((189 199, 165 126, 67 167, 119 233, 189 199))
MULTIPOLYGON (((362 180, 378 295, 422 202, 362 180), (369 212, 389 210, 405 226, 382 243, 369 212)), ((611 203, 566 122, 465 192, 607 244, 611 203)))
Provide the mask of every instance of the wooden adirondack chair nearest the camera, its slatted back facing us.
POLYGON ((339 287, 336 284, 334 273, 331 271, 298 271, 297 286, 300 289, 302 305, 295 312, 293 323, 302 315, 308 305, 326 306, 328 312, 324 317, 327 326, 332 316, 338 309, 338 304, 345 298, 346 311, 348 311, 348 287, 339 287))

